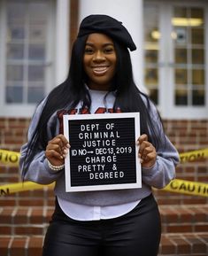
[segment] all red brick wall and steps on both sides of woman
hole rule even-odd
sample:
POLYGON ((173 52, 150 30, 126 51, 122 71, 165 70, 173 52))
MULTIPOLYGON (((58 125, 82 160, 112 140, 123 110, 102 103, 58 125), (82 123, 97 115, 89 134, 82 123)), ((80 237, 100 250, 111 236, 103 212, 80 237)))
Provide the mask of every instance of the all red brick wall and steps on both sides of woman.
MULTIPOLYGON (((28 119, 0 119, 0 149, 19 151, 28 119)), ((165 120, 166 134, 180 152, 208 147, 208 120, 165 120)), ((207 182, 208 159, 180 164, 177 178, 207 182)), ((18 167, 0 164, 0 185, 19 182, 18 167)), ((208 255, 207 198, 154 190, 162 220, 159 256, 208 255)), ((54 206, 53 191, 29 190, 0 197, 1 256, 37 256, 54 206)))

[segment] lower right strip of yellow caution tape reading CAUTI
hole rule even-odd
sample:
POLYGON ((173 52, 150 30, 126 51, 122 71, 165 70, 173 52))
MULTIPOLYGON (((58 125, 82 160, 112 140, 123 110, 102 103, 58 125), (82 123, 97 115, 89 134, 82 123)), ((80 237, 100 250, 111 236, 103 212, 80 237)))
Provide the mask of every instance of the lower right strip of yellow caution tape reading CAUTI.
POLYGON ((203 182, 189 182, 175 179, 163 190, 192 196, 208 197, 208 183, 203 182))

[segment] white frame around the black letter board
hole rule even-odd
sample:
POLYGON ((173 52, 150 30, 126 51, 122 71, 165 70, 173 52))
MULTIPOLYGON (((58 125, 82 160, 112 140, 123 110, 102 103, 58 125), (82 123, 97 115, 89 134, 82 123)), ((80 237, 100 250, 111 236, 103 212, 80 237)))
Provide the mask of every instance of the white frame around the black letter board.
MULTIPOLYGON (((70 122, 74 120, 89 120, 90 121, 96 121, 96 120, 112 120, 116 121, 117 119, 134 119, 134 138, 135 138, 135 144, 133 150, 135 151, 134 154, 134 160, 135 160, 135 182, 126 182, 126 183, 113 183, 113 184, 94 184, 94 185, 72 185, 72 179, 71 179, 71 163, 73 162, 72 157, 70 157, 70 154, 73 150, 72 146, 70 149, 68 149, 68 153, 65 157, 65 191, 66 192, 78 192, 78 191, 95 191, 95 190, 124 190, 124 189, 138 189, 142 188, 142 168, 141 163, 138 158, 138 150, 139 146, 136 144, 136 140, 140 136, 140 113, 139 112, 121 112, 121 113, 96 113, 96 114, 65 114, 63 116, 63 122, 64 122, 64 136, 70 143, 70 135, 69 135, 69 126, 70 122)), ((77 132, 79 133, 79 131, 77 132)), ((114 153, 115 155, 115 153, 114 153)))

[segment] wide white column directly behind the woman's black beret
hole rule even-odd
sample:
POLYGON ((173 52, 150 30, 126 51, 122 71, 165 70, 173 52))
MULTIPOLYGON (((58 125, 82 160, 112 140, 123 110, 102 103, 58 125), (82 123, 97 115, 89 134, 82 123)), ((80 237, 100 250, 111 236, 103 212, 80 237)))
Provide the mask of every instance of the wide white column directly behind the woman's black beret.
POLYGON ((80 21, 89 14, 110 15, 127 27, 137 50, 131 52, 136 85, 143 87, 143 0, 80 0, 80 21))

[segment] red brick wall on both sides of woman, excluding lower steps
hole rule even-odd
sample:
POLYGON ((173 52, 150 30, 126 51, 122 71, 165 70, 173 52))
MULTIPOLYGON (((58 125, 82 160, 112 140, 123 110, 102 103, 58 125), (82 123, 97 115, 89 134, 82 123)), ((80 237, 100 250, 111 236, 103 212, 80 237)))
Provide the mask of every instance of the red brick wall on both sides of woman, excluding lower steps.
MULTIPOLYGON (((0 148, 19 151, 26 142, 29 119, 0 119, 0 148)), ((165 120, 166 134, 179 152, 194 151, 208 147, 208 120, 165 120)), ((196 182, 208 182, 208 159, 182 163, 176 170, 177 178, 196 182)), ((19 182, 18 167, 0 166, 0 184, 19 182)), ((166 204, 205 204, 207 198, 194 197, 162 190, 156 190, 158 203, 166 204)), ((47 188, 21 192, 0 198, 0 205, 42 206, 53 204, 53 193, 47 188), (33 198, 33 200, 31 200, 33 198)))

